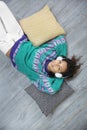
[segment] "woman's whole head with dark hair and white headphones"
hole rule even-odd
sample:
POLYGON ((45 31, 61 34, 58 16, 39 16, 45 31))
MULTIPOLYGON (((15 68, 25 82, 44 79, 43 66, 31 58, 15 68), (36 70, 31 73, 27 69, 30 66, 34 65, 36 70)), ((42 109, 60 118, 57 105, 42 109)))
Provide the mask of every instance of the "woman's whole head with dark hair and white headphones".
POLYGON ((48 71, 51 72, 51 75, 49 75, 50 77, 53 76, 61 76, 60 77, 65 77, 65 78, 70 78, 73 77, 78 69, 80 69, 80 64, 77 65, 77 61, 79 59, 76 59, 75 56, 73 56, 71 59, 62 56, 51 61, 48 64, 48 71))

